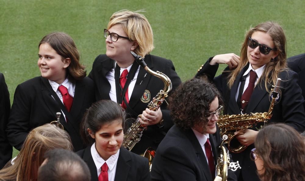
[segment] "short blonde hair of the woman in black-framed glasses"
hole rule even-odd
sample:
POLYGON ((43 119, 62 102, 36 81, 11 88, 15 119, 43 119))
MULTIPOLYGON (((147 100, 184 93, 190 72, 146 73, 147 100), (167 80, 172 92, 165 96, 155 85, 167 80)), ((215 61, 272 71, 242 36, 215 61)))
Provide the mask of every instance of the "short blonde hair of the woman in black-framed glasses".
POLYGON ((123 26, 124 32, 131 41, 137 41, 138 47, 134 50, 136 54, 145 57, 154 48, 152 28, 146 17, 138 12, 120 10, 113 13, 110 17, 107 29, 109 30, 116 24, 123 26))

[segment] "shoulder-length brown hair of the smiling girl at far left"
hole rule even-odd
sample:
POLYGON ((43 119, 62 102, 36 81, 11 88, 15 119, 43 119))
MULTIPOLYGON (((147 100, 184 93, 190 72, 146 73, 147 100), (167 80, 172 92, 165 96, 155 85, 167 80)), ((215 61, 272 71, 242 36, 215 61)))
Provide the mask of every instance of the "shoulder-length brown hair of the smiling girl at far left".
POLYGON ((67 77, 70 80, 81 80, 86 76, 85 66, 80 63, 80 55, 73 39, 64 32, 54 32, 46 35, 38 44, 48 43, 63 59, 70 58, 67 77))

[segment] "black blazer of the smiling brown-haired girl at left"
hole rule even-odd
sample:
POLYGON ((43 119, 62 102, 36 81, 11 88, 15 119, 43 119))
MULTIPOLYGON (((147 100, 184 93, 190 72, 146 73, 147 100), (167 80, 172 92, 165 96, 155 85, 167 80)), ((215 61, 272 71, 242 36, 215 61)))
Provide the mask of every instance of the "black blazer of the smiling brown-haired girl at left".
POLYGON ((10 144, 20 150, 30 130, 57 120, 56 112, 63 110, 68 123, 66 123, 63 114, 60 117, 60 123, 70 134, 74 151, 83 149, 80 122, 86 109, 95 101, 92 94, 94 84, 88 77, 77 80, 75 84, 74 99, 70 112, 60 102, 47 79, 39 76, 19 84, 15 91, 6 129, 10 144), (51 97, 52 93, 58 101, 51 97))

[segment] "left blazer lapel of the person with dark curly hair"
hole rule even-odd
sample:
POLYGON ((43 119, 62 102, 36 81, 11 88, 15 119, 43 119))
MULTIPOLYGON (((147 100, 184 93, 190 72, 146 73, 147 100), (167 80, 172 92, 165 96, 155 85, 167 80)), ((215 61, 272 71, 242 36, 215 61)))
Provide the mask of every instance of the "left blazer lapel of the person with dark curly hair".
MULTIPOLYGON (((186 133, 186 137, 188 137, 188 139, 190 140, 191 144, 193 145, 193 147, 195 149, 198 161, 201 165, 201 168, 204 173, 204 176, 206 177, 206 180, 212 180, 210 168, 206 161, 206 156, 203 153, 202 147, 199 144, 199 141, 197 140, 194 132, 191 129, 189 129, 185 133, 186 133)), ((213 152, 213 154, 214 154, 214 152, 213 152)))

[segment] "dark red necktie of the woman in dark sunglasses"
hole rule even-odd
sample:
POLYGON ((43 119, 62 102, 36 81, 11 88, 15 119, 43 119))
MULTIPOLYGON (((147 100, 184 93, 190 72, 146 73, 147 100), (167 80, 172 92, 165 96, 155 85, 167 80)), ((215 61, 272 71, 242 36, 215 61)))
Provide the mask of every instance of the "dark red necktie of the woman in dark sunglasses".
POLYGON ((248 87, 246 88, 245 92, 242 94, 242 97, 240 99, 241 107, 244 109, 246 105, 248 105, 250 97, 253 93, 254 84, 257 79, 257 74, 253 70, 250 70, 250 79, 248 87))

